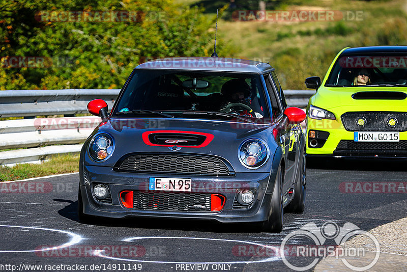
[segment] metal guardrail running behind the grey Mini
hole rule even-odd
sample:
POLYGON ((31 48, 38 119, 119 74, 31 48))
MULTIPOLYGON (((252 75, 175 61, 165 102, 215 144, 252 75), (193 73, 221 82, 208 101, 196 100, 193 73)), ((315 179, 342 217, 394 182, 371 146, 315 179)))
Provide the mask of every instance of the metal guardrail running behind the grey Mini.
MULTIPOLYGON (((89 101, 100 98, 112 107, 120 90, 0 91, 0 117, 30 117, 87 113, 89 101)), ((290 106, 306 107, 315 91, 286 90, 290 106)), ((0 121, 0 166, 40 162, 49 156, 78 153, 100 117, 35 118, 0 121)))

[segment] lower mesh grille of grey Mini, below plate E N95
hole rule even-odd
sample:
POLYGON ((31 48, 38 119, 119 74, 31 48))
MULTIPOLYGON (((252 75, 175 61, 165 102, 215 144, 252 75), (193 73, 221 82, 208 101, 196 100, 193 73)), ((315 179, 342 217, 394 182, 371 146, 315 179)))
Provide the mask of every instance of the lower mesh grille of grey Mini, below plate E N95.
POLYGON ((163 211, 211 211, 211 194, 134 191, 133 208, 163 211))

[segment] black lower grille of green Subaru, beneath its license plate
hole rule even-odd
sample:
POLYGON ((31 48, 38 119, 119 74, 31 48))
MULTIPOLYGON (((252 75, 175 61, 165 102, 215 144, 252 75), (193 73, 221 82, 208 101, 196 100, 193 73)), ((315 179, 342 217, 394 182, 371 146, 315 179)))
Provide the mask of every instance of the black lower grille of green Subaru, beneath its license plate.
POLYGON ((407 157, 407 141, 394 143, 354 142, 342 140, 333 155, 363 157, 407 157))

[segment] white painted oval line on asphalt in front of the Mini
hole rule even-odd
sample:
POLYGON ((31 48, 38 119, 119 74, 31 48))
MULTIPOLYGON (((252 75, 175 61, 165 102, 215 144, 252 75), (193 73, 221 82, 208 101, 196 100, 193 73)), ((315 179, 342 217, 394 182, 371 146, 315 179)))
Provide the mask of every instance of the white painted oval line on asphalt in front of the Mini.
MULTIPOLYGON (((248 243, 248 244, 253 244, 254 246, 260 246, 260 247, 265 247, 265 248, 273 248, 275 252, 278 252, 279 247, 274 247, 274 246, 267 246, 265 244, 261 243, 256 243, 256 242, 250 242, 250 241, 241 241, 241 240, 228 240, 228 239, 216 239, 216 238, 197 238, 197 237, 162 237, 162 236, 147 236, 147 237, 131 237, 124 239, 122 241, 124 242, 132 242, 133 240, 142 240, 142 239, 189 239, 189 240, 211 240, 211 241, 223 241, 223 242, 239 242, 239 243, 248 243)), ((170 262, 170 261, 147 261, 147 260, 132 260, 132 259, 125 259, 125 258, 117 258, 117 257, 111 257, 111 256, 106 256, 103 255, 103 250, 94 250, 93 253, 95 256, 106 258, 106 259, 112 259, 112 260, 118 260, 118 261, 131 261, 131 262, 148 262, 148 263, 191 263, 191 264, 238 264, 238 263, 263 263, 263 262, 272 262, 272 261, 277 261, 281 260, 280 256, 274 256, 274 257, 269 257, 267 259, 263 260, 258 260, 258 261, 231 261, 231 262, 170 262)))

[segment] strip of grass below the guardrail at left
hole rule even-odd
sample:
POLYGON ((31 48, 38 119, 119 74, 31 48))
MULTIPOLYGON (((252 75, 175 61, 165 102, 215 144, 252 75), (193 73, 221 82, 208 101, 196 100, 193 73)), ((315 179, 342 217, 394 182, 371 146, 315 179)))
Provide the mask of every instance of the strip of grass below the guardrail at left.
POLYGON ((79 171, 79 155, 56 155, 41 164, 0 166, 0 181, 20 180, 79 171))

